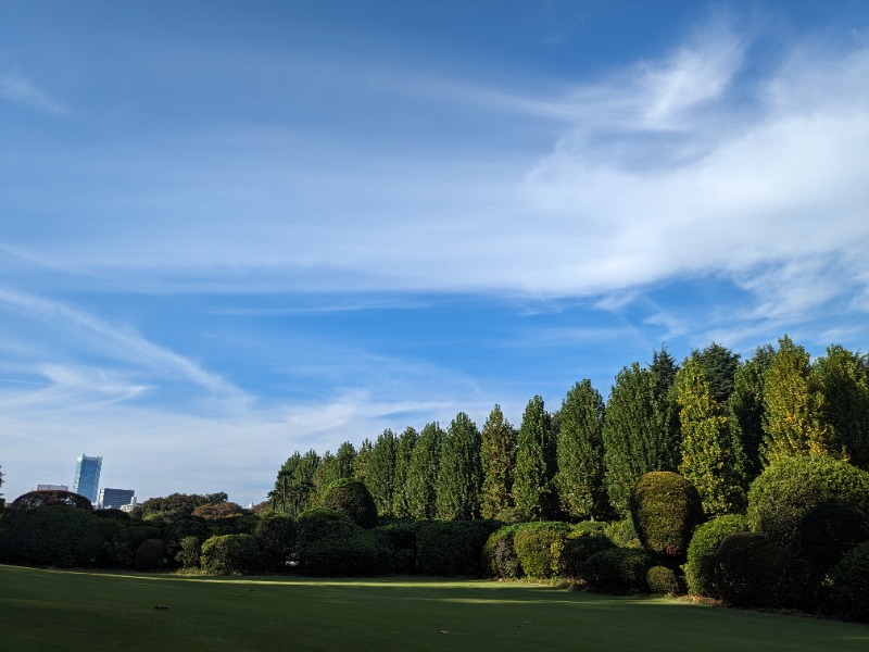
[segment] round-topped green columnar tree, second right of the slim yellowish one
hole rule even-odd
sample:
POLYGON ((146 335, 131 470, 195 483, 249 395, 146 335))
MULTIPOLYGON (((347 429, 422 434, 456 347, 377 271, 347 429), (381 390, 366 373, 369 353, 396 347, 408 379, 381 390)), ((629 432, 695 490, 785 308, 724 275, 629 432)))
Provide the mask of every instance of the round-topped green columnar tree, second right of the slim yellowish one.
POLYGON ((603 517, 606 512, 603 427, 603 398, 591 380, 577 383, 562 403, 556 441, 555 485, 562 511, 571 519, 603 517))

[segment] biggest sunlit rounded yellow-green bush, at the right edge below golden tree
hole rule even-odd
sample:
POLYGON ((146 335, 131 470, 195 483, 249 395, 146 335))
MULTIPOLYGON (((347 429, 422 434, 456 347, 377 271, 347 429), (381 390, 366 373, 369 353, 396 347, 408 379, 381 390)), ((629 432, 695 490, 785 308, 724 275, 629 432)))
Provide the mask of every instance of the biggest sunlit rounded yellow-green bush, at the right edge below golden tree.
POLYGON ((831 457, 784 457, 752 482, 748 526, 788 549, 799 518, 824 502, 869 512, 869 473, 831 457))

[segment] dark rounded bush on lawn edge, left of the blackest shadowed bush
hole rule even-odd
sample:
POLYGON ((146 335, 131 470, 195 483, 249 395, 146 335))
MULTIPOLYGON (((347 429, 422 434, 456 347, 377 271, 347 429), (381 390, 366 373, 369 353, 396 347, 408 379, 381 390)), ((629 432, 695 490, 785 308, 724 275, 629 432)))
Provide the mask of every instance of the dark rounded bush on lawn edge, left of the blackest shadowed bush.
POLYGON ((731 606, 779 606, 784 554, 756 532, 725 537, 715 555, 715 584, 731 606))

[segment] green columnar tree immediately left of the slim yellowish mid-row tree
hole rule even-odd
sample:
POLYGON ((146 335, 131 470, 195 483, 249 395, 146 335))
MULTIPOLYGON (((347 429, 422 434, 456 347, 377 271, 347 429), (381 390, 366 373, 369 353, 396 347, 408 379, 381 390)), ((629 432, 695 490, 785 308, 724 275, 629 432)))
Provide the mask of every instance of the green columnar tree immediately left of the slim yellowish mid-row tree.
POLYGON ((438 518, 477 518, 480 515, 481 485, 480 432, 470 417, 459 412, 441 441, 438 518))

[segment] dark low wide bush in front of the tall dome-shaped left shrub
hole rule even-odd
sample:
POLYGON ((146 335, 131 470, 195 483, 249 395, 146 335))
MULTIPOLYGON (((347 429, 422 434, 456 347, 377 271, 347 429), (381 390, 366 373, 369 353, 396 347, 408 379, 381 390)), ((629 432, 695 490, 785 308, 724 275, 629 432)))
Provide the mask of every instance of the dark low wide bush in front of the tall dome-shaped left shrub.
POLYGON ((300 555, 302 569, 320 577, 377 575, 390 559, 386 541, 358 529, 348 537, 325 537, 306 546, 300 555))

